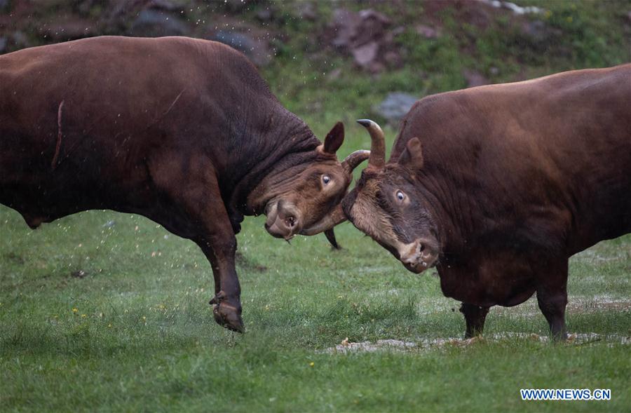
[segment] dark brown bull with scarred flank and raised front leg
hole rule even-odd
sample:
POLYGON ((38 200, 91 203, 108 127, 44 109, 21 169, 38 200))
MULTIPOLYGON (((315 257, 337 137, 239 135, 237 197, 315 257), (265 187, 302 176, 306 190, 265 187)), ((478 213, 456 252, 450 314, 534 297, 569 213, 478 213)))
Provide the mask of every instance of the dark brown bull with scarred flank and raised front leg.
POLYGON ((351 171, 246 57, 211 41, 100 37, 0 57, 0 203, 31 228, 83 210, 144 215, 212 264, 217 323, 243 330, 235 234, 331 229, 351 171), (337 208, 334 208, 336 207, 337 208))

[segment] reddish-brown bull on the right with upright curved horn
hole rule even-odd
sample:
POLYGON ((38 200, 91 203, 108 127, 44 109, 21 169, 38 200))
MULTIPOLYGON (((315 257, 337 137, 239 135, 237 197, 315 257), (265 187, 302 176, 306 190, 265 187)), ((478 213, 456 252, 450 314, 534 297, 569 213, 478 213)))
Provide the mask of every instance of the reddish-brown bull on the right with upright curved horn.
POLYGON ((631 65, 433 95, 342 205, 409 271, 436 266, 466 337, 536 292, 566 337, 568 258, 631 231, 631 65))

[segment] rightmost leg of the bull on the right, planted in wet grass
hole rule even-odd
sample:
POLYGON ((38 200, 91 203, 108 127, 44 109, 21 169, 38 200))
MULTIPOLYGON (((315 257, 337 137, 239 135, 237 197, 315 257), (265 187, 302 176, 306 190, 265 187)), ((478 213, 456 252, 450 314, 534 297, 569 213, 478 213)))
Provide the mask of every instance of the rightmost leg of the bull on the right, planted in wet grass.
POLYGON ((567 259, 548 266, 538 274, 537 302, 548 320, 550 333, 555 340, 567 339, 565 306, 567 305, 567 259))

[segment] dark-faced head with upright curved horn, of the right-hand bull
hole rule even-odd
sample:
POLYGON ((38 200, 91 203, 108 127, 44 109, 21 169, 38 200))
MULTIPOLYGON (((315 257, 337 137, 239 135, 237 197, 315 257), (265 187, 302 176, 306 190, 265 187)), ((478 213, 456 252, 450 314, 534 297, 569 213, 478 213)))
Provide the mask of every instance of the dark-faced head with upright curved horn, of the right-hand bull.
POLYGON ((416 172, 423 168, 421 141, 413 138, 396 162, 386 164, 384 133, 358 121, 372 138, 368 167, 342 201, 344 214, 360 231, 397 257, 414 273, 437 264, 439 228, 416 172))

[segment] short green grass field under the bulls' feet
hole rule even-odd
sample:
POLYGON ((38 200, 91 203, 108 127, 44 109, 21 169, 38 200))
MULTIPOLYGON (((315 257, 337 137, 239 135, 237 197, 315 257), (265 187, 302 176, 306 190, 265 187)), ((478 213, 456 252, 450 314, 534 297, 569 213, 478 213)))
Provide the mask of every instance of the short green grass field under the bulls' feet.
POLYGON ((486 341, 330 354, 351 341, 461 337, 458 303, 355 231, 292 245, 262 219, 238 236, 247 333, 215 325, 210 266, 147 219, 86 212, 31 231, 0 209, 0 409, 56 411, 623 411, 631 405, 631 236, 571 261, 570 332, 534 300, 492 309, 486 341), (111 228, 103 224, 114 220, 111 228), (165 236, 167 236, 165 238, 165 236), (153 255, 153 257, 152 257, 153 255), (72 276, 85 271, 84 278, 72 276), (613 302, 616 306, 602 304, 613 302), (599 304, 600 303, 600 304, 599 304), (76 309, 76 312, 73 311, 76 309), (453 311, 456 309, 456 311, 453 311), (499 333, 522 336, 494 338, 499 333), (313 363, 313 367, 311 366, 313 363), (609 402, 522 402, 520 388, 611 388, 609 402))

